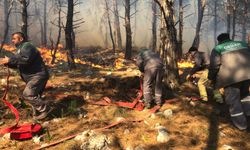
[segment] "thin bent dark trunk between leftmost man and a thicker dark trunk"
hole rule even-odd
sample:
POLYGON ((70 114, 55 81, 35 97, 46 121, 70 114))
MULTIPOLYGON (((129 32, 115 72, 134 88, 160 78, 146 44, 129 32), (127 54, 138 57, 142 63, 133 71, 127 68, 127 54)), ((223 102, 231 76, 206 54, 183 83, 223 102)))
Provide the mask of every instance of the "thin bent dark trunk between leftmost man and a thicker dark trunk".
POLYGON ((52 53, 52 60, 51 60, 51 64, 55 63, 56 60, 56 53, 58 50, 58 45, 60 43, 61 40, 61 34, 62 34, 62 26, 61 26, 61 12, 62 12, 62 3, 61 0, 58 0, 58 36, 57 36, 57 40, 56 40, 56 47, 54 49, 54 52, 52 53))

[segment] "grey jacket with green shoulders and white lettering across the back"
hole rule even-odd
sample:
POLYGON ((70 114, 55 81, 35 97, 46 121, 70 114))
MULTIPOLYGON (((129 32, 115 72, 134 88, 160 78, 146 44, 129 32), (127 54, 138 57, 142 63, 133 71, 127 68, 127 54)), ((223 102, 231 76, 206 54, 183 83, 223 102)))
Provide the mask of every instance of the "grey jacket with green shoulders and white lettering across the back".
POLYGON ((250 49, 240 41, 227 40, 217 45, 210 56, 208 79, 216 88, 250 79, 250 49))

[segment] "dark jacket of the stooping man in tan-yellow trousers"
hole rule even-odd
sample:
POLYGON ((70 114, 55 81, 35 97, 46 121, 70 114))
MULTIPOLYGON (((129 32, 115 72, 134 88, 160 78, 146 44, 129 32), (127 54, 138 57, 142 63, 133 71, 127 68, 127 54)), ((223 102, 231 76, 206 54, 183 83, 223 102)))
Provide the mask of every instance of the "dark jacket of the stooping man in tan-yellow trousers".
POLYGON ((196 51, 192 60, 194 61, 194 67, 190 71, 190 75, 195 74, 197 71, 203 70, 206 68, 206 59, 205 59, 205 53, 196 51))

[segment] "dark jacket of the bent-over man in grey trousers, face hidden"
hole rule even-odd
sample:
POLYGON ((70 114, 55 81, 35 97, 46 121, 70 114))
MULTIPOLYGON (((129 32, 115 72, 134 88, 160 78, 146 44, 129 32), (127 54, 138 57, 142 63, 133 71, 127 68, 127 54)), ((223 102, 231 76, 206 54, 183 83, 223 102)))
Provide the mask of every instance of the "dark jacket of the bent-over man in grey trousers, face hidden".
POLYGON ((136 64, 141 72, 151 68, 163 68, 159 55, 150 49, 142 50, 136 58, 136 64))

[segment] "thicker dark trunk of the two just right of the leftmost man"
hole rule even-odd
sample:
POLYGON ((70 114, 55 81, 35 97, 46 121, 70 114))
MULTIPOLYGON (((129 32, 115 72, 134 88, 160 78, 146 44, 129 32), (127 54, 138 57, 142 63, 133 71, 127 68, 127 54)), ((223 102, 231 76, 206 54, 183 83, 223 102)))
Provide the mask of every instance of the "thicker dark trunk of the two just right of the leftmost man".
POLYGON ((73 32, 73 16, 74 16, 74 1, 68 1, 68 11, 67 11, 67 22, 65 27, 65 40, 66 40, 66 49, 67 52, 67 59, 68 59, 68 66, 69 69, 75 69, 75 60, 73 55, 73 39, 72 39, 72 32, 73 32))

